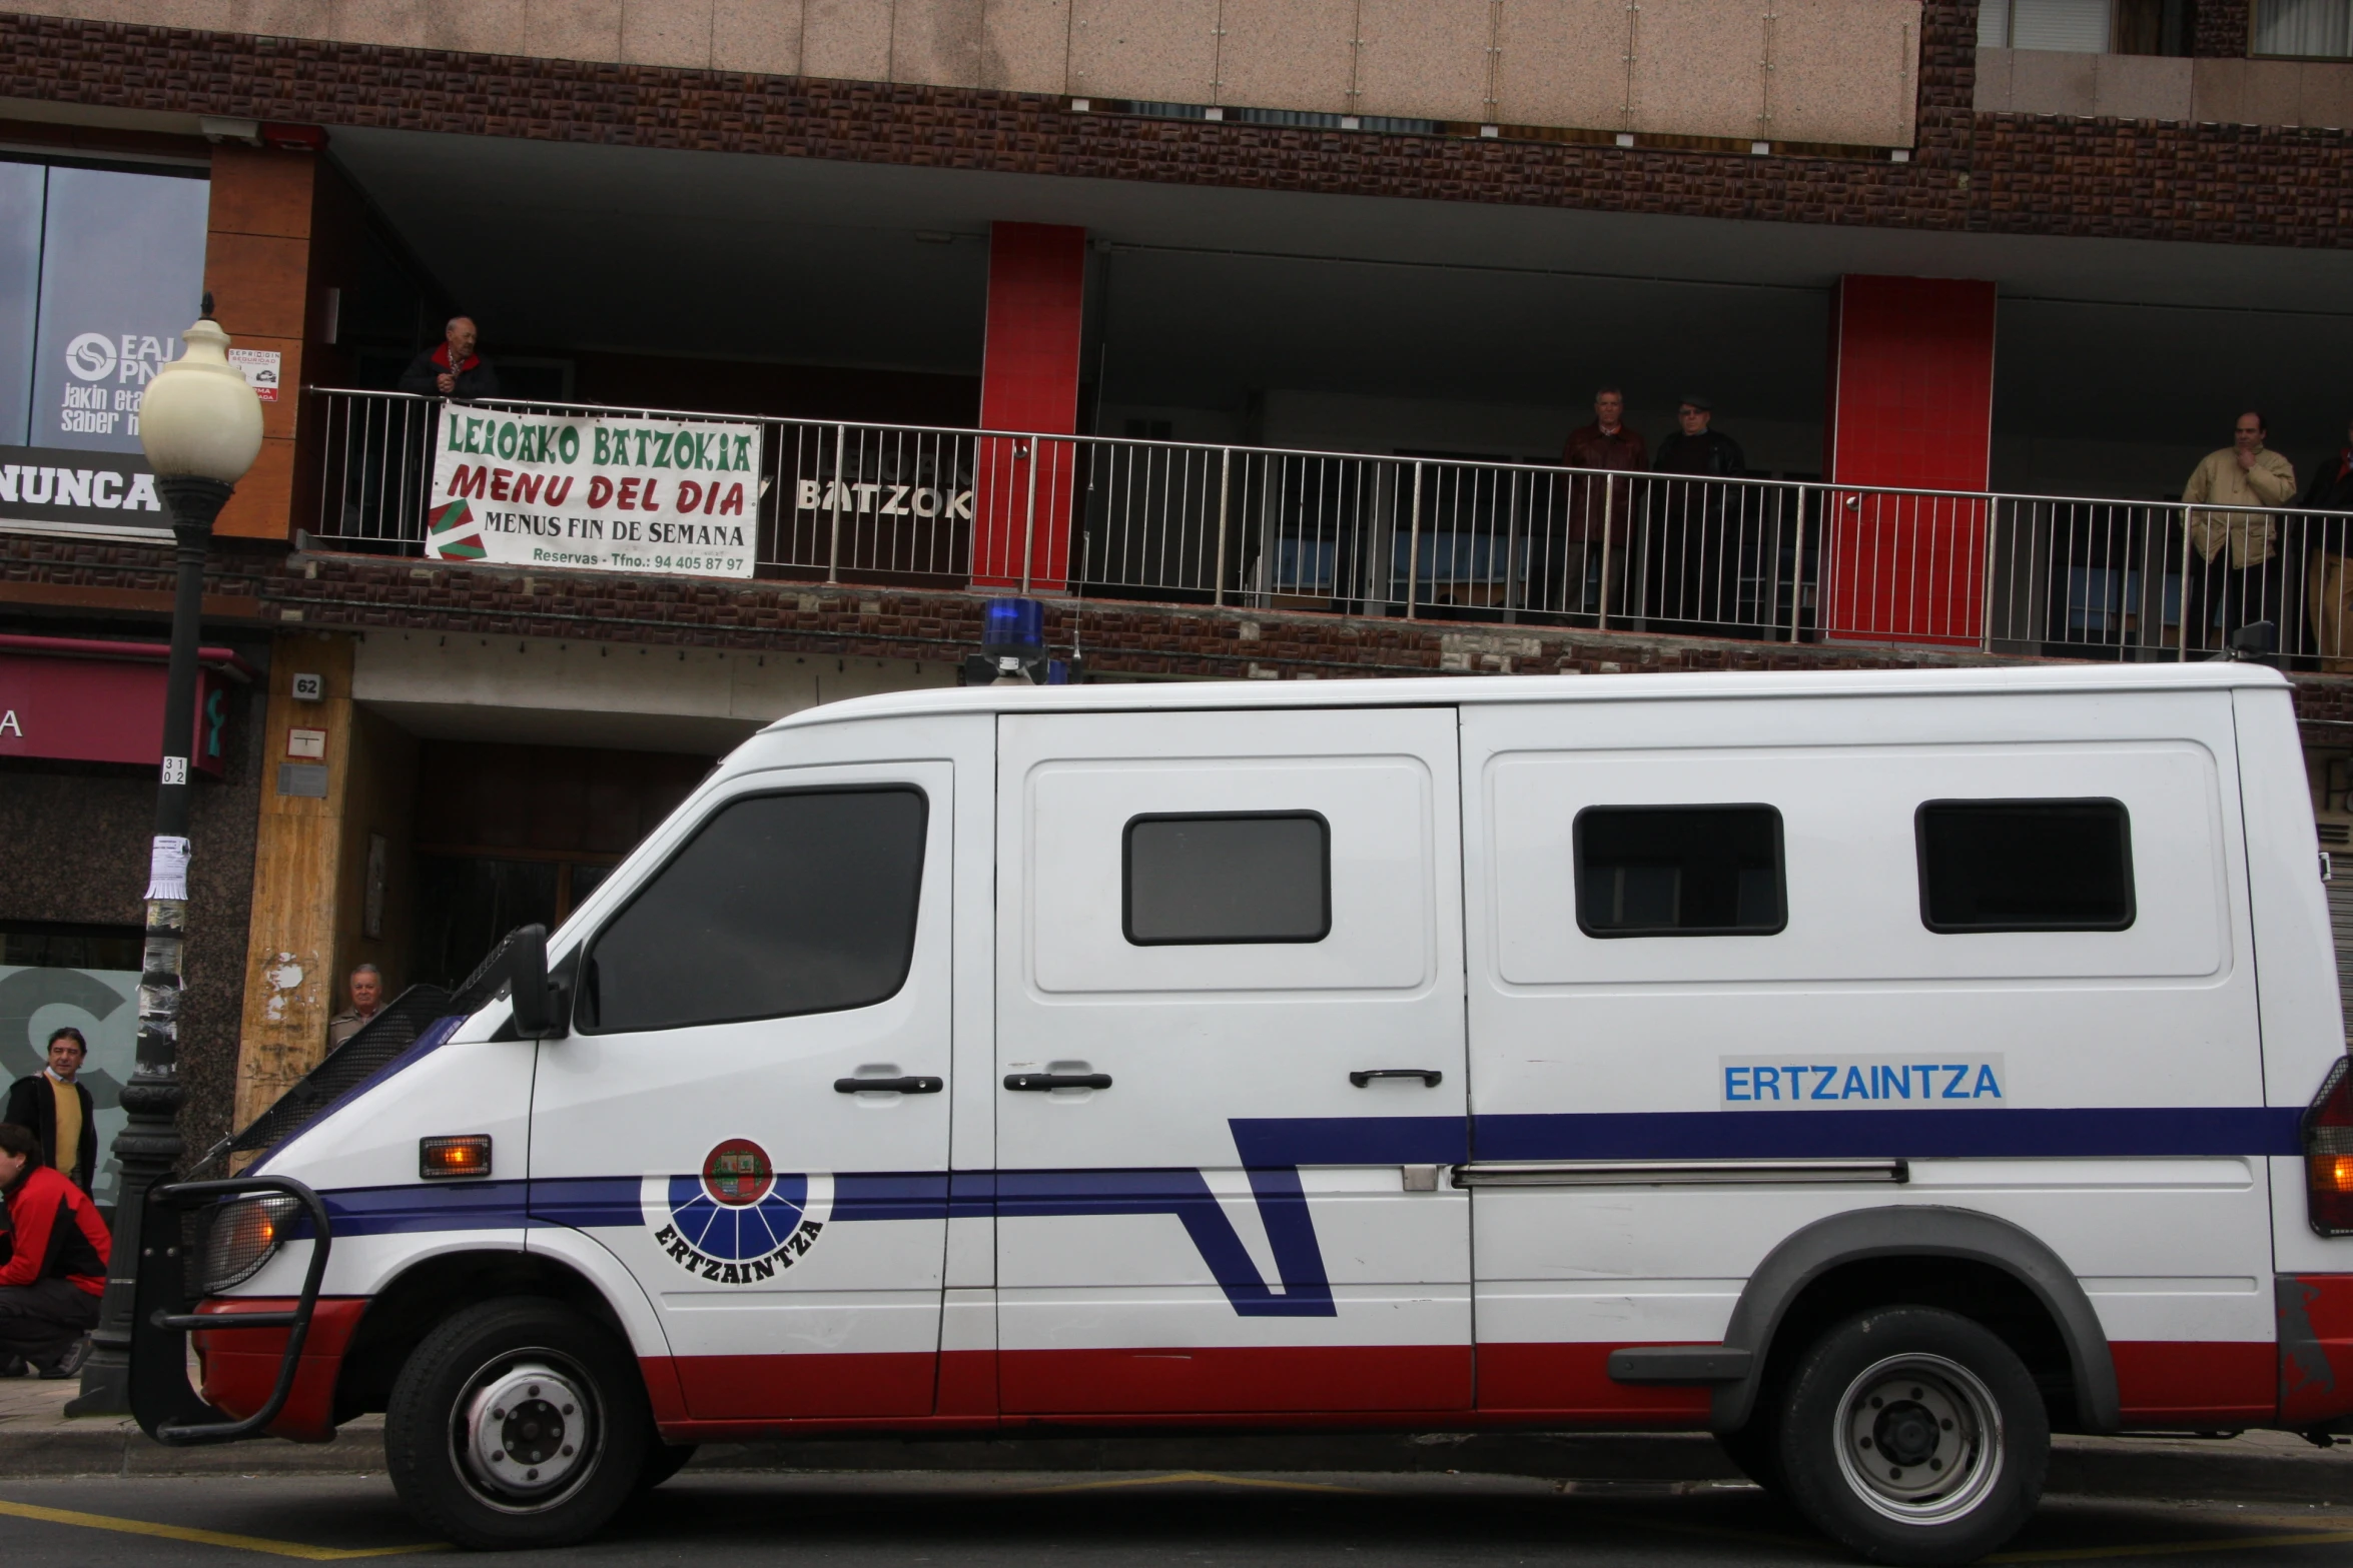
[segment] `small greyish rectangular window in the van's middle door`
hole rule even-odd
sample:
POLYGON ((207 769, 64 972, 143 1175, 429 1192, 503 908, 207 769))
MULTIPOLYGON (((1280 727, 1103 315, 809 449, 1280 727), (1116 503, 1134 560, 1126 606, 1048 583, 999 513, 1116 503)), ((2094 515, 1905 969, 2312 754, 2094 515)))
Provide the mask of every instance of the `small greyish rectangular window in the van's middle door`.
POLYGON ((1136 816, 1120 884, 1136 947, 1320 943, 1332 931, 1332 825, 1320 811, 1136 816))

